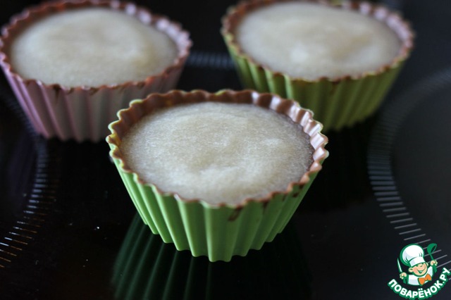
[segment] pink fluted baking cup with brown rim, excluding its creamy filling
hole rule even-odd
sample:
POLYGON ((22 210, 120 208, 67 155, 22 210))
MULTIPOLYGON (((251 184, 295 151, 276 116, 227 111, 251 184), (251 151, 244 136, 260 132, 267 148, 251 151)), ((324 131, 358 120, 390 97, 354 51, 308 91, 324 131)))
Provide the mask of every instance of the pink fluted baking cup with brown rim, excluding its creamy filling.
MULTIPOLYGON (((144 98, 152 92, 166 92, 178 82, 192 42, 178 23, 129 2, 119 1, 51 1, 25 9, 4 26, 0 39, 0 65, 14 94, 35 130, 46 138, 75 139, 97 142, 108 135, 108 124, 116 112, 132 99, 144 98), (39 79, 25 79, 11 64, 11 44, 25 28, 48 15, 77 8, 101 7, 121 11, 155 27, 173 40, 178 56, 161 73, 141 81, 128 81, 97 87, 67 87, 45 84, 39 79)), ((88 45, 87 45, 88 46, 88 45)))

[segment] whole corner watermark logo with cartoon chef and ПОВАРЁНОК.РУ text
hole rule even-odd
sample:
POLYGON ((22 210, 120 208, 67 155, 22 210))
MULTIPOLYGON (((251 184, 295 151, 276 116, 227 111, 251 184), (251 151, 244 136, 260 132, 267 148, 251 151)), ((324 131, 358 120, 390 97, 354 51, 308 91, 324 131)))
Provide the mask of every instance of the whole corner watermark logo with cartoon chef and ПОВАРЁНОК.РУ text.
POLYGON ((388 286, 396 294, 406 299, 428 299, 443 289, 451 272, 446 268, 438 270, 438 263, 432 254, 437 244, 429 244, 426 248, 431 261, 424 259, 424 250, 418 244, 405 246, 397 260, 397 269, 404 287, 397 280, 388 282, 388 286), (402 265, 404 265, 404 269, 402 265), (407 270, 406 270, 407 269, 407 270), (438 275, 437 273, 440 273, 438 275))

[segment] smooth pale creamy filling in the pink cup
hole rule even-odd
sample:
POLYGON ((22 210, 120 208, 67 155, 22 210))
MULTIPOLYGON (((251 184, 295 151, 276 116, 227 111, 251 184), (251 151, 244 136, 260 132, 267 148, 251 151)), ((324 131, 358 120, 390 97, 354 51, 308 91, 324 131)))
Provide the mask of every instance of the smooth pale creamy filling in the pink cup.
POLYGON ((51 15, 27 28, 11 48, 21 76, 68 87, 141 81, 177 57, 163 32, 108 8, 51 15))

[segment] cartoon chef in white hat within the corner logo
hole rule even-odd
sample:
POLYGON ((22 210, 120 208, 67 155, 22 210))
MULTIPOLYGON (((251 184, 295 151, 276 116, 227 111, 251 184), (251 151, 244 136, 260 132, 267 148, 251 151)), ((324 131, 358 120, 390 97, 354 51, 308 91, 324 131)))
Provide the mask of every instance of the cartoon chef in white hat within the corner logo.
POLYGON ((432 280, 435 273, 437 261, 432 260, 430 263, 424 261, 424 251, 421 246, 417 244, 410 244, 402 249, 400 260, 404 265, 409 267, 409 275, 402 272, 399 261, 398 268, 400 268, 400 278, 408 285, 424 285, 426 282, 432 280))

